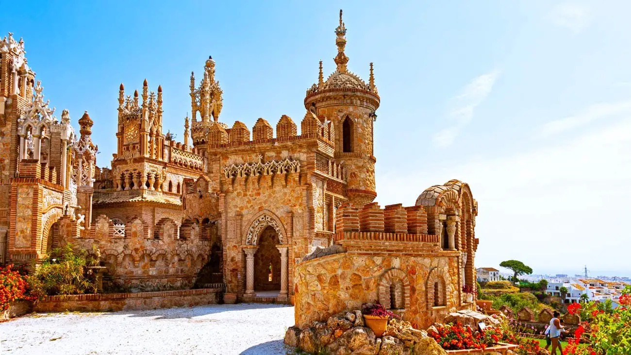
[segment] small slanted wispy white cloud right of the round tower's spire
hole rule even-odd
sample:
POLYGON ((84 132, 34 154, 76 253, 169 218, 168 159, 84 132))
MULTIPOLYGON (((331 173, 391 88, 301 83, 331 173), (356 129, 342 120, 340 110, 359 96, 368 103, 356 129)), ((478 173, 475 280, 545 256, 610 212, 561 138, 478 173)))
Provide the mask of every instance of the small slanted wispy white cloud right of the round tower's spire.
POLYGON ((498 75, 499 71, 494 70, 476 77, 463 88, 459 95, 451 99, 451 108, 447 111, 447 118, 452 122, 452 126, 442 129, 433 136, 433 141, 436 145, 448 147, 454 143, 463 126, 473 119, 476 107, 493 90, 493 85, 495 85, 498 75))

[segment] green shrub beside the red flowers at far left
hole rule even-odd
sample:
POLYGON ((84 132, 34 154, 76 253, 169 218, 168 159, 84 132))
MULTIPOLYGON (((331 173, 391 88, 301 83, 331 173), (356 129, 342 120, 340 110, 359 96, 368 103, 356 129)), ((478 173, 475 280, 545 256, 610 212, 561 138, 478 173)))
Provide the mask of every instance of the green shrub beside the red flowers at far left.
POLYGON ((94 275, 87 267, 97 263, 85 250, 75 251, 71 244, 66 244, 50 251, 28 282, 33 289, 49 296, 95 293, 94 275))

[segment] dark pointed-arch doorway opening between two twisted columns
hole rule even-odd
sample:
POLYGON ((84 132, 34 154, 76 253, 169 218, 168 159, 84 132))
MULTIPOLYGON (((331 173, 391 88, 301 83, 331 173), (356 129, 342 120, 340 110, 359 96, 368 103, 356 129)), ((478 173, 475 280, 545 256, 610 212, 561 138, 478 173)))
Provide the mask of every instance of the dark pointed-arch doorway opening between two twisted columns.
POLYGON ((278 233, 268 226, 258 239, 259 248, 254 254, 254 291, 280 291, 281 261, 278 233))

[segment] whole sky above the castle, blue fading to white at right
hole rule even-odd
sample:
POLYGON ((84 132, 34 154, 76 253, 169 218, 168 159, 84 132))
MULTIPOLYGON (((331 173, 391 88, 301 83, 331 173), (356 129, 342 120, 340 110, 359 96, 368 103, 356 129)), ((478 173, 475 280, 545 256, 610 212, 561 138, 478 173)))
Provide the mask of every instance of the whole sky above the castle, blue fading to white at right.
MULTIPOLYGON (((182 139, 189 76, 212 55, 220 120, 299 122, 305 90, 334 71, 344 9, 351 71, 374 62, 377 201, 413 205, 433 184, 470 184, 478 267, 631 274, 631 63, 627 1, 15 2, 51 105, 95 121, 97 163, 115 150, 117 90, 162 85, 182 139)), ((9 9, 7 11, 7 9, 9 9)), ((9 15, 9 16, 7 16, 9 15)), ((201 76, 198 76, 198 79, 201 76)), ((298 124, 299 125, 299 124, 298 124)))

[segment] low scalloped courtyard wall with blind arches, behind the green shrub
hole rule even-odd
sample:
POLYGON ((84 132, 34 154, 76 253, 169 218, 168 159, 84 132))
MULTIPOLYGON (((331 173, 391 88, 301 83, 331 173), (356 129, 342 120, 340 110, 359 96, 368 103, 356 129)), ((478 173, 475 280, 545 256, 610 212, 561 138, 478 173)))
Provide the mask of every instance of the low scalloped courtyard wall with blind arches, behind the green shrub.
MULTIPOLYGON (((59 239, 52 247, 71 243, 90 252, 96 248, 112 281, 133 289, 191 287, 211 256, 211 238, 199 232, 180 234, 179 226, 172 221, 159 224, 150 234, 149 226, 140 218, 115 225, 100 215, 83 238, 70 232, 75 224, 70 217, 62 218, 55 226, 59 239)), ((208 236, 216 236, 216 232, 208 236)))

